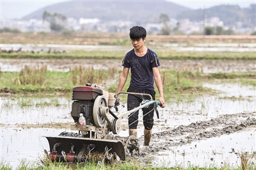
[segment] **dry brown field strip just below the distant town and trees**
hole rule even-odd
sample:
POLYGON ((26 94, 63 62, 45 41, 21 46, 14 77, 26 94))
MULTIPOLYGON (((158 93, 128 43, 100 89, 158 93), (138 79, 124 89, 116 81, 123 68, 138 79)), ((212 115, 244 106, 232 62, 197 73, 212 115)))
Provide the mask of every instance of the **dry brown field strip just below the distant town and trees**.
MULTIPOLYGON (((118 33, 1 33, 1 43, 130 45, 129 35, 118 33)), ((256 38, 252 35, 148 35, 146 43, 256 43, 256 38)))

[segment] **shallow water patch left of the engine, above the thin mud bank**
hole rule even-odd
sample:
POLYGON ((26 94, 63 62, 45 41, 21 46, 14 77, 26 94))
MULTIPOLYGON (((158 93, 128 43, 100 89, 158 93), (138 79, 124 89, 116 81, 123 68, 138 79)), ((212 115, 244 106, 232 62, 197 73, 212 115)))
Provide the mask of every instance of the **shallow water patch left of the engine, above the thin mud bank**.
POLYGON ((68 123, 72 103, 67 98, 1 98, 3 124, 68 123), (26 105, 24 105, 26 104, 26 105), (41 105, 40 105, 41 104, 41 105))

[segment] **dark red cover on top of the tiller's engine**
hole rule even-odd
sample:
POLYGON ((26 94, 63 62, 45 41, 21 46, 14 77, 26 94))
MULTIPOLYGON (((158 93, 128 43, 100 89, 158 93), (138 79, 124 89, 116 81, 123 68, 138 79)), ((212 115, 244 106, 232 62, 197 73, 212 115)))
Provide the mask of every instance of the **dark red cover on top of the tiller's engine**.
POLYGON ((103 95, 100 88, 77 86, 73 89, 72 100, 95 100, 99 95, 103 95))

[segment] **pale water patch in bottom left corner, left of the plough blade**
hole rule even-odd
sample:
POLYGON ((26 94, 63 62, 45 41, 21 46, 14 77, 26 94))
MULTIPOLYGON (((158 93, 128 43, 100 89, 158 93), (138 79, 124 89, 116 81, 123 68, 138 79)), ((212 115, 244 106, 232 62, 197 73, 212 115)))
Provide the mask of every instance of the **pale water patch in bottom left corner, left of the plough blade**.
POLYGON ((44 149, 49 150, 45 135, 60 134, 66 128, 1 127, 1 158, 15 169, 22 160, 31 165, 40 162, 44 149))

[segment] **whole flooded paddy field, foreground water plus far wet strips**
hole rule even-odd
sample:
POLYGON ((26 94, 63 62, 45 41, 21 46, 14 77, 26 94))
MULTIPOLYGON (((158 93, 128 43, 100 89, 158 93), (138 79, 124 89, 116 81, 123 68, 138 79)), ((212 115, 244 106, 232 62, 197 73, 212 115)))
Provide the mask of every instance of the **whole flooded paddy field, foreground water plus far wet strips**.
MULTIPOLYGON (((170 44, 164 45, 170 48, 170 44)), ((255 51, 255 46, 246 43, 209 43, 206 46, 195 44, 189 49, 182 45, 172 46, 175 49, 179 47, 181 51, 255 51)), ((24 49, 26 47, 28 50, 42 48, 27 45, 24 49)), ((6 45, 6 48, 9 46, 6 45)), ((44 48, 49 49, 48 46, 44 48)), ((108 50, 113 50, 111 48, 108 50)), ((119 59, 1 59, 0 64, 1 72, 20 72, 25 65, 47 65, 47 70, 60 72, 68 72, 77 65, 94 69, 122 69, 119 59)), ((252 60, 172 59, 161 61, 161 69, 196 70, 204 73, 255 73, 256 63, 252 60)), ((159 119, 156 115, 154 117, 151 143, 146 147, 142 146, 143 123, 140 114, 138 140, 141 155, 127 155, 127 161, 139 160, 142 165, 151 164, 157 167, 221 167, 225 164, 237 167, 241 165, 239 153, 253 155, 256 152, 255 86, 242 85, 239 81, 203 82, 202 86, 218 91, 217 95, 200 95, 193 100, 183 98, 179 102, 167 102, 164 109, 158 109, 159 119)), ((71 94, 70 97, 1 94, 1 158, 10 162, 13 168, 19 166, 21 160, 28 160, 33 164, 40 162, 44 150, 50 150, 44 136, 70 132, 70 125, 74 123, 70 116, 72 102, 71 94)), ((125 111, 126 104, 125 101, 122 102, 125 105, 122 111, 125 111)), ((128 135, 126 119, 122 121, 122 125, 124 129, 120 137, 125 137, 128 135)), ((255 157, 252 161, 256 162, 255 157)))

